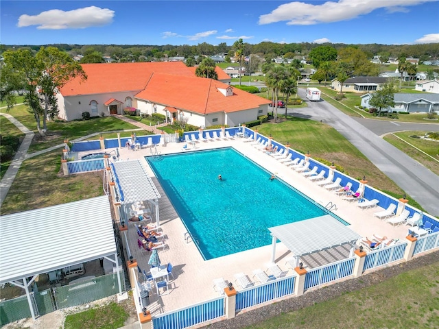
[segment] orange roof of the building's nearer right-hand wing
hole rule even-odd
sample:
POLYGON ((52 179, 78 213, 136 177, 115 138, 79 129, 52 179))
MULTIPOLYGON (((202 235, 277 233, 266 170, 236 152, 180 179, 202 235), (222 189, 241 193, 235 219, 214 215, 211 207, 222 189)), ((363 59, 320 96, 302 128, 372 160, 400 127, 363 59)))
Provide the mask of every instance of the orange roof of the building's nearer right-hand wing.
POLYGON ((200 114, 237 112, 270 103, 268 99, 237 88, 233 88, 233 96, 228 97, 218 90, 228 87, 204 77, 154 73, 146 88, 135 97, 200 114))

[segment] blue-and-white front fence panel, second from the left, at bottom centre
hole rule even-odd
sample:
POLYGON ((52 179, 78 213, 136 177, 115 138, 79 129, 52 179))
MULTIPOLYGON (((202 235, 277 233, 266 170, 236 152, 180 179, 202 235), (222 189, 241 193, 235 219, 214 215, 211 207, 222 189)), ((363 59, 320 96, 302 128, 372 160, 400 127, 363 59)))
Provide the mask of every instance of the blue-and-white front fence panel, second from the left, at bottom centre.
POLYGON ((235 310, 244 310, 294 293, 295 276, 281 278, 246 288, 236 294, 235 310))

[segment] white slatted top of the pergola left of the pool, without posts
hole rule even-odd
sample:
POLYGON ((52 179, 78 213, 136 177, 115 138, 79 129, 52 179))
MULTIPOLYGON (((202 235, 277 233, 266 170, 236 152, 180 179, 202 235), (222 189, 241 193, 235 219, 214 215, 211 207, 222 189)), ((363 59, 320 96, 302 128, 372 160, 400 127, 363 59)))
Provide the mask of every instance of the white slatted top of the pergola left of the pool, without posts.
POLYGON ((156 201, 161 198, 154 182, 139 160, 112 163, 121 204, 140 201, 156 201))

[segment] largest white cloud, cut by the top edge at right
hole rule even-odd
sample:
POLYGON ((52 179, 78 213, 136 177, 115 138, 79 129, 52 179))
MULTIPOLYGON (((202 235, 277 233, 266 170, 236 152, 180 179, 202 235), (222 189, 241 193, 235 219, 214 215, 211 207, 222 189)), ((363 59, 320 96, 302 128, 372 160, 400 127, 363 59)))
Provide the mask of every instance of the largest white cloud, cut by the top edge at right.
POLYGON ((437 0, 339 0, 314 5, 294 1, 278 6, 270 14, 259 16, 259 24, 287 21, 287 25, 314 25, 355 19, 385 8, 388 12, 407 11, 408 6, 437 0))

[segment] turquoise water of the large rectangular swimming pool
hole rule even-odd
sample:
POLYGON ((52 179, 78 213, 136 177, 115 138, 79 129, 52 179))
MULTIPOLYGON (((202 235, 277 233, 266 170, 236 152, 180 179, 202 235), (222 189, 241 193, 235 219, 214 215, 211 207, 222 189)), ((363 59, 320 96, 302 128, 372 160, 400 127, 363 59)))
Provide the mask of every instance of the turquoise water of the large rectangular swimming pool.
POLYGON ((268 228, 327 214, 231 147, 146 160, 206 260, 269 245, 268 228))

